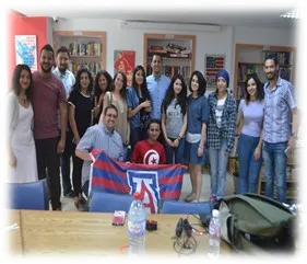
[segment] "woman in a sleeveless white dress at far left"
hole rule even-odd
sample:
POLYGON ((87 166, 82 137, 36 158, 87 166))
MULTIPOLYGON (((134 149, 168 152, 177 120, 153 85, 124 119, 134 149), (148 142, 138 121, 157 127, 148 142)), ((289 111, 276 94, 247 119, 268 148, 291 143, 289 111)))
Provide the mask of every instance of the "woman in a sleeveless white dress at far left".
POLYGON ((12 91, 8 95, 9 177, 11 183, 37 181, 36 151, 32 133, 32 72, 17 65, 13 72, 12 91))

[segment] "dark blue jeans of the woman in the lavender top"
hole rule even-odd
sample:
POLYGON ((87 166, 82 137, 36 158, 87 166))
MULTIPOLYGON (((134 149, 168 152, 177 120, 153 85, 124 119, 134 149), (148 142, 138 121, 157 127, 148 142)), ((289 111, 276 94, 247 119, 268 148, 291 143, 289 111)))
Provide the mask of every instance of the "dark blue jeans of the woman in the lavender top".
POLYGON ((262 157, 255 160, 253 152, 259 144, 260 137, 251 137, 241 134, 238 141, 239 179, 243 193, 256 193, 262 157))

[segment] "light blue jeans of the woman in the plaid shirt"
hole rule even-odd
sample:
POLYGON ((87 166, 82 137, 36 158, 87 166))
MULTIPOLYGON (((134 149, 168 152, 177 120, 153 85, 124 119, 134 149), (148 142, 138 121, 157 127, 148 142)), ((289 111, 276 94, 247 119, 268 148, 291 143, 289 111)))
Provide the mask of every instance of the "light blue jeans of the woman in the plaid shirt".
POLYGON ((227 140, 222 139, 221 149, 209 148, 210 170, 211 170, 211 195, 217 199, 222 198, 226 185, 226 167, 228 153, 225 154, 227 140))

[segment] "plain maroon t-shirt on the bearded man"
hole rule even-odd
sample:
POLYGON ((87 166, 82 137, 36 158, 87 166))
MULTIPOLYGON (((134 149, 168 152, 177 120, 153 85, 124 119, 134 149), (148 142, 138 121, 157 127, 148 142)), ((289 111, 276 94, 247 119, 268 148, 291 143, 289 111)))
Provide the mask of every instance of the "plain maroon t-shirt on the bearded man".
POLYGON ((34 138, 58 137, 59 104, 67 102, 66 89, 54 73, 42 78, 39 71, 33 72, 34 138))

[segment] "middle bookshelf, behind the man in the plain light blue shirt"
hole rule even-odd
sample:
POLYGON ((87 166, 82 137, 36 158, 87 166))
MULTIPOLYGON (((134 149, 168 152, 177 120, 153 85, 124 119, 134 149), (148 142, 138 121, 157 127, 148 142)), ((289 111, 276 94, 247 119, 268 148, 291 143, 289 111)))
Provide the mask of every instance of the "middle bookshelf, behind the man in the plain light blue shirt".
POLYGON ((163 58, 162 72, 172 78, 180 73, 188 83, 194 70, 196 36, 173 34, 144 34, 144 69, 152 73, 151 61, 154 54, 163 58))

